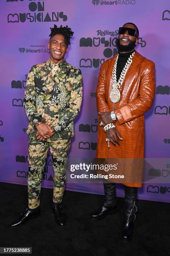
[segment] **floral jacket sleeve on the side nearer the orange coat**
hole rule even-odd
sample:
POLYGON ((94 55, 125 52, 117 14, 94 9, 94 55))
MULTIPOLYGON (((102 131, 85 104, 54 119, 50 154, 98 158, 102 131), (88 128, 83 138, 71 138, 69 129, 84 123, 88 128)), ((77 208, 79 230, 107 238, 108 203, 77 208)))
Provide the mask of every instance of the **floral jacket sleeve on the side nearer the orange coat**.
POLYGON ((67 104, 67 108, 58 117, 58 122, 54 126, 54 130, 63 131, 67 125, 69 125, 72 120, 80 112, 82 102, 82 74, 80 69, 76 71, 76 77, 74 78, 70 100, 67 104))

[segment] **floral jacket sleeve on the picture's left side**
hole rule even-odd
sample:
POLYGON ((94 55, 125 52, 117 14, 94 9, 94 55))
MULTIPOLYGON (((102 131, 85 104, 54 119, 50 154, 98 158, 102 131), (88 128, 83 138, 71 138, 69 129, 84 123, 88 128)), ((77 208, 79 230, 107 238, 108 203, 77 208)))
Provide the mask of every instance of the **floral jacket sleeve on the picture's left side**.
POLYGON ((35 91, 35 81, 34 81, 34 67, 31 68, 27 83, 25 86, 25 97, 24 97, 24 107, 26 115, 31 123, 31 125, 35 125, 40 122, 40 117, 37 113, 36 108, 36 91, 35 91))

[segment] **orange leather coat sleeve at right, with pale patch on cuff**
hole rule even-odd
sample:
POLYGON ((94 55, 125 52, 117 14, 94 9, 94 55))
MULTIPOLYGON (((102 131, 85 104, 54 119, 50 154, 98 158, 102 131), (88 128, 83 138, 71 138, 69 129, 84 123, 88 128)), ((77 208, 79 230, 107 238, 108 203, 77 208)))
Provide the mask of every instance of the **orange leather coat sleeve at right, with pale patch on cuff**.
POLYGON ((120 125, 143 115, 153 105, 155 96, 155 64, 153 61, 146 60, 141 70, 139 97, 133 102, 115 110, 120 125))

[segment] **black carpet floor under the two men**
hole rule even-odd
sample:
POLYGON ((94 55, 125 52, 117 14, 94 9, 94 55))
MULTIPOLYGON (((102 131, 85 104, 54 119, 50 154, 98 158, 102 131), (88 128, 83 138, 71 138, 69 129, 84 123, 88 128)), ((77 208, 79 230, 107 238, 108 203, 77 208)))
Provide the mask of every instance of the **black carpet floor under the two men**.
MULTIPOLYGON (((35 256, 164 256, 170 255, 170 204, 138 200, 134 238, 121 240, 124 198, 118 209, 100 221, 90 220, 102 195, 65 191, 65 227, 55 224, 52 189, 42 188, 41 215, 22 227, 10 223, 27 207, 27 187, 0 182, 0 247, 32 247, 35 256)), ((21 255, 21 254, 18 254, 21 255)), ((28 255, 28 254, 27 254, 28 255)))

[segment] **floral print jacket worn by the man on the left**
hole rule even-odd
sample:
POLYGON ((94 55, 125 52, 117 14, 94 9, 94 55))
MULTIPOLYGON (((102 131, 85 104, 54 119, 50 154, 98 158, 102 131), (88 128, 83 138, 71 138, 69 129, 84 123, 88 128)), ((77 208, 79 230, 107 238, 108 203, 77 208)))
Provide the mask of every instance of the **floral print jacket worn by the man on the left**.
POLYGON ((82 75, 80 69, 65 59, 52 72, 52 63, 33 66, 25 87, 24 107, 30 121, 27 133, 35 135, 35 124, 42 121, 54 130, 51 140, 67 139, 74 135, 73 119, 80 112, 82 75))

